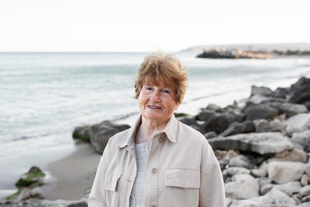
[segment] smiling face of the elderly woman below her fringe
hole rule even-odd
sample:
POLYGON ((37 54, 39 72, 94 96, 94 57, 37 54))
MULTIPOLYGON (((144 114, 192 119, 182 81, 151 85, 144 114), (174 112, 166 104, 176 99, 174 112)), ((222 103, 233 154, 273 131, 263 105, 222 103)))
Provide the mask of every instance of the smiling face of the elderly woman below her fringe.
POLYGON ((139 98, 139 108, 144 118, 153 121, 167 121, 179 105, 174 99, 174 90, 159 83, 144 84, 139 98))

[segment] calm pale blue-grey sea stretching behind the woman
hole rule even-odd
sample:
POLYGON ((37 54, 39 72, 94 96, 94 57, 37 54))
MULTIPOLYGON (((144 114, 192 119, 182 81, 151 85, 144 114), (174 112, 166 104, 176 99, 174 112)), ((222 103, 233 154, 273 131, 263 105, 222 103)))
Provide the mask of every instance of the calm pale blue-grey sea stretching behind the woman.
MULTIPOLYGON (((167 52, 168 53, 168 52, 167 52)), ((147 52, 0 53, 0 158, 72 145, 77 126, 139 115, 134 78, 147 52)), ((251 87, 290 87, 310 77, 310 57, 197 58, 175 52, 188 72, 176 112, 195 115, 208 104, 244 104, 251 87)))

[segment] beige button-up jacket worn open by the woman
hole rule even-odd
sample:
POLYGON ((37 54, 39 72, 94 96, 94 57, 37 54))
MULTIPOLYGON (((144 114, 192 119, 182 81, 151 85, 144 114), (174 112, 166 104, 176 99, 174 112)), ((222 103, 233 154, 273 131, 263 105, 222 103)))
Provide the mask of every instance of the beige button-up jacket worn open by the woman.
MULTIPOLYGON (((135 134, 140 124, 111 137, 89 196, 89 207, 129 207, 137 172, 135 134)), ((226 207, 219 163, 207 139, 174 115, 155 134, 147 161, 146 207, 226 207)))

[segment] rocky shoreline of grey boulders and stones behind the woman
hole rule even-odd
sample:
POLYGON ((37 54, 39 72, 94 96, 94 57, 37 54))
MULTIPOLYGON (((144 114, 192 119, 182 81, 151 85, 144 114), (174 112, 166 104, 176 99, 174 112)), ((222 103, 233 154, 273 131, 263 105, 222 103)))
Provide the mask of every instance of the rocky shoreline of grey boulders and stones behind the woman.
MULTIPOLYGON (((244 105, 209 104, 177 117, 203 133, 220 163, 227 207, 310 206, 310 78, 275 91, 252 87, 244 105)), ((177 114, 176 114, 177 115, 177 114)), ((102 153, 110 136, 129 128, 104 121, 77 127, 76 139, 102 153)), ((95 172, 94 172, 95 173, 95 172)), ((85 207, 79 201, 27 199, 0 207, 85 207)))

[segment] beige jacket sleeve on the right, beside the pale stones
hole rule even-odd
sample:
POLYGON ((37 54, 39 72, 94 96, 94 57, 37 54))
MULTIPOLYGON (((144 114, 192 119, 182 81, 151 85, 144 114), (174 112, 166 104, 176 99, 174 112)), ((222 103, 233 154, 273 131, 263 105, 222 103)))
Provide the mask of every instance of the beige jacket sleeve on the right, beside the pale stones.
POLYGON ((203 147, 201 167, 199 207, 226 207, 222 171, 208 143, 203 147))

